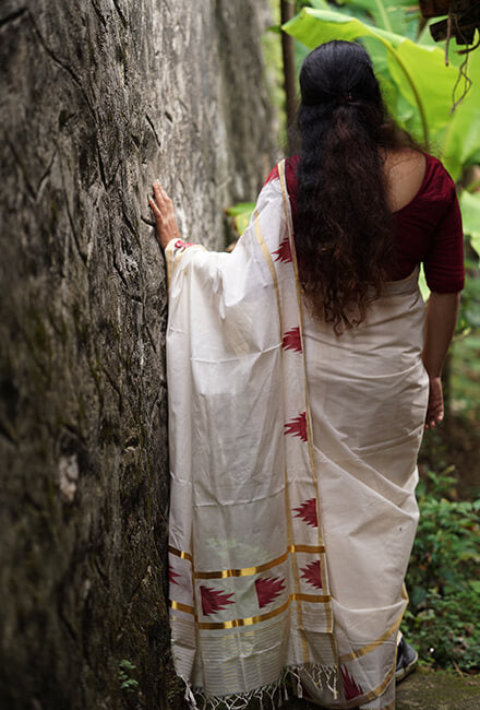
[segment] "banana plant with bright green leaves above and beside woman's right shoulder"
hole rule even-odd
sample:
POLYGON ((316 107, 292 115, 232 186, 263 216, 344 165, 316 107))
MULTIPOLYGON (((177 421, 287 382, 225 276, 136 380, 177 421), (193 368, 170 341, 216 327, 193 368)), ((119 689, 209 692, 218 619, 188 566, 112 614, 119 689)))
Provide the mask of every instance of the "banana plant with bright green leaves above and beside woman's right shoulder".
MULTIPOLYGON (((309 50, 331 39, 360 42, 375 67, 391 114, 420 142, 440 154, 459 184, 466 234, 480 253, 480 192, 465 185, 466 168, 480 164, 480 51, 470 56, 472 86, 454 114, 461 59, 434 45, 410 0, 346 0, 338 7, 310 0, 283 29, 309 50)), ((453 43, 454 44, 454 43, 453 43)))

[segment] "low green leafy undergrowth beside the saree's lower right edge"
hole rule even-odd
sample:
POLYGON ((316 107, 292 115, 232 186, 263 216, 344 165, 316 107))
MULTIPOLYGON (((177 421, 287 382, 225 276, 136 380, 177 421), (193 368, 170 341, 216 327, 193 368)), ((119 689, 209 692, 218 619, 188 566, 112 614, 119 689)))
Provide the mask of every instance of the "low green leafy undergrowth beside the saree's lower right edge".
POLYGON ((423 662, 472 671, 480 666, 480 500, 448 500, 455 484, 448 471, 419 484, 403 628, 423 662))

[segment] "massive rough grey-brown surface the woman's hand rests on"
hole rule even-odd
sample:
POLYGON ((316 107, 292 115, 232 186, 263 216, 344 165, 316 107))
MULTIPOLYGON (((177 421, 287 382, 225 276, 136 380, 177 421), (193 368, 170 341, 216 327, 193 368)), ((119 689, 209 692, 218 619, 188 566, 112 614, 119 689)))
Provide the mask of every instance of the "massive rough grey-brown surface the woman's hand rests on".
POLYGON ((1 3, 2 708, 176 705, 147 193, 159 177, 183 235, 211 246, 223 208, 254 197, 272 156, 266 4, 1 3))

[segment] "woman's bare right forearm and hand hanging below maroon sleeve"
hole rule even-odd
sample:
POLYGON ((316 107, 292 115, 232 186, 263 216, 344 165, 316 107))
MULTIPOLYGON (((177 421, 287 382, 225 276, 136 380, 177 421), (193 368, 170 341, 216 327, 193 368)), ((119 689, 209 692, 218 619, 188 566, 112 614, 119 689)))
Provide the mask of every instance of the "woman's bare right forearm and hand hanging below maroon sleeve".
POLYGON ((423 365, 430 377, 429 405, 425 429, 443 419, 442 368, 455 332, 460 294, 437 294, 432 292, 427 304, 425 342, 423 365))

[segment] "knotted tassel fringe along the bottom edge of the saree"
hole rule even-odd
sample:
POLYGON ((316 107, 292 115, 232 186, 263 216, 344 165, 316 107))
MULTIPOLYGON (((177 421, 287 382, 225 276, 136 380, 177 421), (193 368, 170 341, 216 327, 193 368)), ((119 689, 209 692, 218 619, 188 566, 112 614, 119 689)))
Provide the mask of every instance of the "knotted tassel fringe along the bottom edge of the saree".
POLYGON ((243 710, 253 699, 260 701, 260 710, 264 710, 264 701, 267 699, 271 701, 272 708, 279 708, 284 700, 288 700, 287 678, 291 678, 293 682, 297 697, 303 697, 300 671, 305 673, 320 689, 323 688, 323 683, 325 683, 334 699, 337 699, 338 671, 336 667, 296 665, 285 668, 278 681, 237 695, 208 696, 205 695, 202 688, 193 688, 190 683, 182 678, 185 684, 185 700, 191 710, 215 710, 215 708, 220 707, 223 710, 224 708, 225 710, 243 710), (277 705, 274 705, 275 697, 277 697, 277 705))

